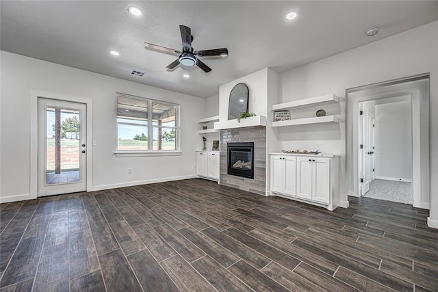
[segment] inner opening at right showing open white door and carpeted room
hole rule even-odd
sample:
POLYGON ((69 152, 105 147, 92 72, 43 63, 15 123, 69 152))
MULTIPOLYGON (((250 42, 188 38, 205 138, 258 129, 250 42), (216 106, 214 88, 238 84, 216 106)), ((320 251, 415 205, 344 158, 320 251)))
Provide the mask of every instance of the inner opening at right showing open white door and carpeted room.
POLYGON ((359 102, 360 196, 413 205, 412 102, 411 96, 359 102))

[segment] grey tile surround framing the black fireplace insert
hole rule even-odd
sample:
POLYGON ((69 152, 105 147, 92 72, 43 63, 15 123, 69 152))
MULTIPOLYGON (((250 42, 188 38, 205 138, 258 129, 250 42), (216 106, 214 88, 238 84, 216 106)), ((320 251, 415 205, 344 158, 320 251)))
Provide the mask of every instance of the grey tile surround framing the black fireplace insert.
POLYGON ((220 130, 220 185, 266 195, 266 127, 220 130), (254 142, 254 179, 227 174, 229 142, 254 142))

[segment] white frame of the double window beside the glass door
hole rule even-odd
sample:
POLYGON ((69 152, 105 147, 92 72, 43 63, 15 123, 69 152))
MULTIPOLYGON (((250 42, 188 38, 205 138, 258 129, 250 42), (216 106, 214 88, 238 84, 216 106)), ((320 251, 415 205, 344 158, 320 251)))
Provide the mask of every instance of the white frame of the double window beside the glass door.
POLYGON ((140 124, 137 124, 136 122, 134 122, 135 120, 133 120, 132 123, 129 122, 118 122, 118 114, 116 112, 116 151, 114 151, 114 154, 116 155, 116 157, 138 157, 138 156, 173 156, 173 155, 181 155, 181 106, 177 103, 171 103, 169 101, 159 101, 157 99, 152 99, 152 98, 145 98, 142 96, 135 96, 135 95, 131 95, 131 94, 123 94, 123 93, 119 93, 116 92, 116 109, 118 108, 118 97, 127 97, 127 98, 132 98, 132 99, 138 99, 139 101, 147 102, 147 109, 148 109, 148 118, 147 118, 147 124, 143 125, 146 126, 148 131, 147 131, 147 137, 148 137, 148 149, 147 150, 119 150, 118 149, 118 125, 119 124, 132 124, 135 126, 140 126, 140 124), (170 127, 170 126, 158 126, 158 125, 154 125, 153 122, 153 104, 154 103, 160 103, 160 104, 164 104, 164 105, 171 105, 173 107, 175 107, 176 109, 176 114, 175 114, 175 127, 170 127), (154 129, 157 129, 157 131, 159 131, 159 129, 175 129, 175 150, 155 150, 153 149, 153 131, 154 129), (150 137, 152 139, 150 139, 150 137))

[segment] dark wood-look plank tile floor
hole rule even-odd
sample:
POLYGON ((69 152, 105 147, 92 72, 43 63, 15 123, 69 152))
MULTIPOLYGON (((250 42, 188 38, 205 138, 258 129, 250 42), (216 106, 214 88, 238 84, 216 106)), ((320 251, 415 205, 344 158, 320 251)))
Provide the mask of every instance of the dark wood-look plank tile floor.
POLYGON ((0 204, 0 291, 438 291, 428 211, 190 179, 0 204))

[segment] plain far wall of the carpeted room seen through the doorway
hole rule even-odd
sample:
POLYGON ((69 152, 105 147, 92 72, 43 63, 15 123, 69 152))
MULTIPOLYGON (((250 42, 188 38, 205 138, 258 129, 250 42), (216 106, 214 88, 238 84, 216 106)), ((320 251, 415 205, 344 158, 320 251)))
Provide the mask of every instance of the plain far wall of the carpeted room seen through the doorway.
POLYGON ((376 178, 412 180, 411 101, 376 105, 376 178))

